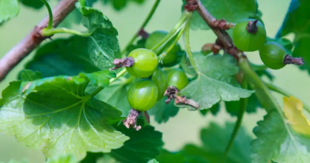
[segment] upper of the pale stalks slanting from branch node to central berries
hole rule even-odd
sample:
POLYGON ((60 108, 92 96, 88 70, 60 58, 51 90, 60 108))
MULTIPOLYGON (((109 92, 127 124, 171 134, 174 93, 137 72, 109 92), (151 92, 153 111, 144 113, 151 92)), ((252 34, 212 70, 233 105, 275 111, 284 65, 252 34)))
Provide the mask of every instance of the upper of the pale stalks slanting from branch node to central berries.
POLYGON ((154 51, 156 54, 161 51, 165 44, 169 42, 183 28, 183 25, 185 25, 184 23, 186 23, 188 17, 192 17, 192 15, 192 12, 184 10, 181 18, 179 19, 179 22, 175 25, 175 27, 166 35, 166 37, 164 37, 156 46, 154 46, 151 51, 154 51))

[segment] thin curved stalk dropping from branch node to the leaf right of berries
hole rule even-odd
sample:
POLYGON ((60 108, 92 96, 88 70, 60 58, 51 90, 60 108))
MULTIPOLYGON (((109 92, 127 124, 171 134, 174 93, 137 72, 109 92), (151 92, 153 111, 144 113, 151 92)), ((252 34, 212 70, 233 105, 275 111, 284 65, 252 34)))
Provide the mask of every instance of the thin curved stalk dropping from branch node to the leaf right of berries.
POLYGON ((191 20, 192 20, 192 17, 188 19, 185 25, 185 31, 184 31, 185 51, 186 51, 186 55, 188 56, 189 62, 193 66, 193 69, 195 70, 195 72, 198 74, 197 65, 195 64, 193 53, 191 51, 191 47, 189 44, 189 29, 190 29, 191 20))

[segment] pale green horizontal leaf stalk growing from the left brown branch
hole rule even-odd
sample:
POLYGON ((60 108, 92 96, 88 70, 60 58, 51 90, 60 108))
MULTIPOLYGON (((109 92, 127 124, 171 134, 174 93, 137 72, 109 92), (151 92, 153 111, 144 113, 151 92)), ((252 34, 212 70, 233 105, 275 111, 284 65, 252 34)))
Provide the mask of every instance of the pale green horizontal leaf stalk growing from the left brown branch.
POLYGON ((41 30, 42 36, 45 36, 45 37, 52 36, 55 33, 69 33, 69 34, 75 34, 75 35, 79 35, 83 37, 89 37, 92 34, 92 33, 82 33, 76 30, 66 29, 66 28, 53 28, 53 29, 44 28, 41 30))

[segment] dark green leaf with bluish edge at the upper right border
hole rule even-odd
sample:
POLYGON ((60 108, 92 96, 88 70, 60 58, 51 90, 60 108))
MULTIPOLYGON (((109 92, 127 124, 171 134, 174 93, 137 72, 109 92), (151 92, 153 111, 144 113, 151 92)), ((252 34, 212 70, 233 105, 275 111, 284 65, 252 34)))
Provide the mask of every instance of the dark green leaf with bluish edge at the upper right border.
POLYGON ((308 55, 308 51, 310 50, 308 46, 308 42, 310 41, 310 26, 307 23, 310 19, 310 15, 307 14, 309 5, 309 0, 291 0, 283 24, 276 37, 283 37, 290 33, 295 34, 292 56, 302 57, 305 64, 298 67, 302 70, 308 70, 310 74, 310 57, 308 55))

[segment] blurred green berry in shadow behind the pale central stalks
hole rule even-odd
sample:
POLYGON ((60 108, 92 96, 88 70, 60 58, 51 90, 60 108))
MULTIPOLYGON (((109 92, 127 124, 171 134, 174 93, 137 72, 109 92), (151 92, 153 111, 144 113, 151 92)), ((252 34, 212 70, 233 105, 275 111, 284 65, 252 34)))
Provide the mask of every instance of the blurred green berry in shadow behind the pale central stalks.
MULTIPOLYGON (((168 32, 166 31, 162 31, 162 30, 157 30, 157 31, 154 31, 153 33, 149 34, 148 35, 148 38, 146 39, 145 41, 145 48, 146 49, 152 49, 154 46, 156 46, 159 42, 162 41, 162 39, 164 37, 166 37, 168 35, 168 32)), ((164 49, 164 51, 166 51, 167 49, 169 48, 166 47, 164 49)), ((163 58, 162 60, 162 63, 163 64, 170 64, 172 63, 173 61, 175 61, 175 59, 177 58, 177 55, 176 53, 179 51, 179 47, 177 45, 175 45, 171 51, 166 54, 166 57, 163 58)), ((160 55, 160 54, 158 54, 160 55)))

